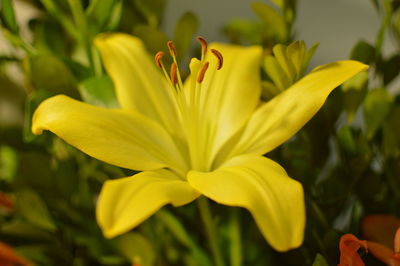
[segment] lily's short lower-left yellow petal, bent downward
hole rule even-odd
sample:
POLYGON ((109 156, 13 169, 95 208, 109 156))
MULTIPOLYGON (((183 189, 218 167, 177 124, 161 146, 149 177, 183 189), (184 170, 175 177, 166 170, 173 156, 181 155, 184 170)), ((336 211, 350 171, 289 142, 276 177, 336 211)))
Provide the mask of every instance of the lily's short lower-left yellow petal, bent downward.
POLYGON ((165 169, 109 180, 97 203, 97 222, 106 237, 123 234, 166 204, 185 205, 199 196, 188 182, 165 169))

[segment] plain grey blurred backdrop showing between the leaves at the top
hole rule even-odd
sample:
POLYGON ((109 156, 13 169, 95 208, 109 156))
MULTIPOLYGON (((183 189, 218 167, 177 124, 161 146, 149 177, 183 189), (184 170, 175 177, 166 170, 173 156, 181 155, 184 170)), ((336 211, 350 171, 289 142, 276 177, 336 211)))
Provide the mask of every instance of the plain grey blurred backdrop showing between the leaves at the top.
MULTIPOLYGON (((165 10, 163 28, 170 35, 176 19, 186 11, 196 11, 199 34, 210 41, 227 41, 223 26, 233 18, 256 18, 251 0, 170 0, 165 10)), ((268 1, 265 1, 268 2, 268 1)), ((354 43, 373 41, 380 26, 377 11, 367 0, 305 0, 298 2, 296 38, 311 46, 319 42, 312 65, 347 59, 354 43)), ((393 44, 385 43, 385 52, 393 44)))

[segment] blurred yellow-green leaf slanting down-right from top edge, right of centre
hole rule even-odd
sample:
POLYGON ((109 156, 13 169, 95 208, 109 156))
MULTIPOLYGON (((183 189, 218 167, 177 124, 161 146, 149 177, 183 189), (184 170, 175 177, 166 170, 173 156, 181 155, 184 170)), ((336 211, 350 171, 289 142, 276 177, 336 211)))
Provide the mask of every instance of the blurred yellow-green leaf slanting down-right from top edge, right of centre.
POLYGON ((254 13, 266 23, 266 27, 272 31, 273 37, 277 38, 278 42, 286 42, 288 33, 282 14, 262 2, 254 2, 251 7, 254 13))

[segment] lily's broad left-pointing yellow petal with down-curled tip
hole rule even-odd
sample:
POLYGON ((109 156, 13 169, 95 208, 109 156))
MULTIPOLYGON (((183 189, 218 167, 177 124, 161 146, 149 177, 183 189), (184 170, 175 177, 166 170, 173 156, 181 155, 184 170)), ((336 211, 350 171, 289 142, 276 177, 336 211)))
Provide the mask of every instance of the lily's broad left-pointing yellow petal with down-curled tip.
POLYGON ((35 111, 34 134, 49 130, 99 160, 134 170, 180 167, 171 137, 153 120, 133 111, 92 106, 59 95, 35 111))

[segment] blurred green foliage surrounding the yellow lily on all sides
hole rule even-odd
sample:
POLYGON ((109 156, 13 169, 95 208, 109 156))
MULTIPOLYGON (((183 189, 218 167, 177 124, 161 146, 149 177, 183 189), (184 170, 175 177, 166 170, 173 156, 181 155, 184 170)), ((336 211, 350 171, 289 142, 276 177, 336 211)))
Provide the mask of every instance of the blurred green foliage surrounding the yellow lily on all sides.
MULTIPOLYGON (((168 52, 166 42, 172 39, 182 63, 195 52, 200 23, 207 22, 198 20, 196 10, 184 13, 173 36, 167 36, 165 0, 26 2, 41 12, 29 22, 32 40, 21 35, 27 25, 17 23, 14 1, 0 2, 1 30, 16 48, 0 54, 0 107, 7 101, 24 115, 23 124, 0 119, 0 193, 14 203, 11 209, 0 207, 1 241, 36 265, 213 265, 193 204, 166 207, 133 232, 104 238, 95 217, 101 186, 134 173, 90 158, 50 133, 31 132, 34 110, 55 94, 118 107, 114 84, 93 45, 97 34, 135 34, 150 55, 168 52), (7 69, 11 65, 22 71, 19 82, 7 69)), ((304 244, 275 252, 247 212, 212 204, 225 263, 337 265, 340 236, 361 237, 365 216, 400 216, 400 8, 398 1, 371 4, 381 16, 380 29, 373 42, 357 42, 349 56, 369 64, 369 72, 335 90, 310 123, 268 154, 303 185, 304 244), (389 34, 395 40, 393 54, 382 50, 389 34)), ((234 18, 222 30, 233 43, 265 49, 261 72, 268 100, 305 75, 318 45, 307 49, 304 41, 295 41, 297 1, 255 2, 251 8, 256 19, 234 18)))

